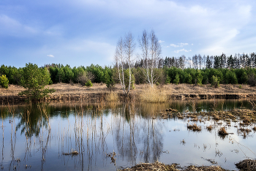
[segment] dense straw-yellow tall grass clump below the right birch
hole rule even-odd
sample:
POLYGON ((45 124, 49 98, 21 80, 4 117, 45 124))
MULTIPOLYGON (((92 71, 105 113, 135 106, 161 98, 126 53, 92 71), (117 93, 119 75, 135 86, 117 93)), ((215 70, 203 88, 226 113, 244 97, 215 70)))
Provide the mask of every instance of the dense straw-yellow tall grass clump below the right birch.
MULTIPOLYGON (((170 94, 170 92, 168 92, 170 94)), ((146 88, 140 94, 140 100, 143 102, 167 102, 167 91, 165 88, 157 88, 157 86, 146 88)))

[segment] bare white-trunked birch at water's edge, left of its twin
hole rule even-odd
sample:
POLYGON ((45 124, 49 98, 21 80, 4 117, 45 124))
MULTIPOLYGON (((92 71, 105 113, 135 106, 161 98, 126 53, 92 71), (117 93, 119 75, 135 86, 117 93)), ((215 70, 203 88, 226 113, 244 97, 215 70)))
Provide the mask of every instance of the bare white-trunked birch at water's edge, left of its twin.
POLYGON ((124 95, 129 94, 132 83, 132 56, 135 50, 135 41, 132 34, 129 32, 124 39, 121 37, 116 45, 116 67, 118 69, 118 78, 124 95), (126 69, 128 69, 128 83, 126 80, 126 69))

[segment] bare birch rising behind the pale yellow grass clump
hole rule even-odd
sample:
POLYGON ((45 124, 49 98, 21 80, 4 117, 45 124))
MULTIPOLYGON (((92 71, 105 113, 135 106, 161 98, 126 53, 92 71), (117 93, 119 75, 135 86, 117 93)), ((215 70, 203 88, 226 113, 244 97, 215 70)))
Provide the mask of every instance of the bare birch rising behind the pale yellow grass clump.
POLYGON ((150 33, 144 30, 142 36, 139 38, 139 43, 142 50, 141 57, 144 61, 143 76, 145 77, 146 83, 153 87, 157 78, 160 76, 156 74, 155 69, 158 66, 157 63, 162 53, 162 48, 153 30, 150 33))

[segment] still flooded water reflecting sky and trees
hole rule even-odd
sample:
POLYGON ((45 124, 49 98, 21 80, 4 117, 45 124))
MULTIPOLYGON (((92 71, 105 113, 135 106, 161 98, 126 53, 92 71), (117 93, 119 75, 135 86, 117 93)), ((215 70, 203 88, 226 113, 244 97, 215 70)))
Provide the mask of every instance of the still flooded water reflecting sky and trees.
POLYGON ((0 106, 1 170, 117 170, 154 161, 237 170, 235 163, 256 157, 255 132, 239 132, 239 122, 162 119, 159 111, 170 107, 198 113, 252 106, 239 100, 0 106), (202 130, 189 131, 187 123, 202 130), (223 126, 232 134, 219 137, 223 126))

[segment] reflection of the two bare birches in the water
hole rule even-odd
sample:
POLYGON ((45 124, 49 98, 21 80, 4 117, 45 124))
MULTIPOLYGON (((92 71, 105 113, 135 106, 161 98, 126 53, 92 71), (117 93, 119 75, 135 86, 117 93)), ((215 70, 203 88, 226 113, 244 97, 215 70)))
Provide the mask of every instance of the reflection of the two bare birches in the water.
POLYGON ((134 110, 132 113, 132 108, 131 105, 124 104, 119 111, 119 117, 116 116, 116 122, 113 123, 116 125, 113 134, 116 137, 118 153, 123 159, 127 157, 127 161, 132 164, 136 164, 139 155, 143 157, 143 162, 157 161, 163 148, 162 124, 150 117, 141 119, 139 115, 135 115, 134 110))

